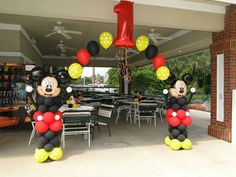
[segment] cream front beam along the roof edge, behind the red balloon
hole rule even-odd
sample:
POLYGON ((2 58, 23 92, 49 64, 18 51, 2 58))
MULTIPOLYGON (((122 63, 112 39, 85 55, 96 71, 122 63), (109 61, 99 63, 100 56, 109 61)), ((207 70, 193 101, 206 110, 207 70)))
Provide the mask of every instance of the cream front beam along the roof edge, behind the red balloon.
MULTIPOLYGON (((167 1, 171 4, 171 2, 177 0, 165 0, 162 1, 162 4, 165 4, 167 1)), ((117 22, 116 14, 113 12, 113 7, 117 2, 113 0, 0 0, 0 4, 0 13, 4 14, 96 22, 117 22)), ((176 7, 176 4, 172 3, 172 6, 176 7)), ((209 7, 207 3, 205 6, 209 7)), ((175 7, 170 8, 164 7, 164 5, 153 6, 136 3, 134 6, 134 24, 214 32, 224 29, 224 7, 217 6, 221 9, 218 10, 221 13, 216 13, 217 10, 213 13, 209 12, 209 10, 208 12, 202 12, 175 7)))

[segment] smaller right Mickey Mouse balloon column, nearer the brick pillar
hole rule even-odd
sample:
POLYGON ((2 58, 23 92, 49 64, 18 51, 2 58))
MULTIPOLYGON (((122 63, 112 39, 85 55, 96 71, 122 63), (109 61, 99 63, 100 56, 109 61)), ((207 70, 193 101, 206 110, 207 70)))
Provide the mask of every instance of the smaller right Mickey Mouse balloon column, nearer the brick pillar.
POLYGON ((165 144, 172 150, 188 150, 192 142, 188 139, 187 126, 192 123, 187 105, 191 102, 196 92, 195 88, 190 89, 190 96, 187 98, 187 85, 192 82, 192 77, 185 74, 182 80, 176 79, 171 73, 167 82, 170 84, 169 91, 163 90, 165 96, 167 111, 166 121, 169 123, 169 136, 165 138, 165 144))

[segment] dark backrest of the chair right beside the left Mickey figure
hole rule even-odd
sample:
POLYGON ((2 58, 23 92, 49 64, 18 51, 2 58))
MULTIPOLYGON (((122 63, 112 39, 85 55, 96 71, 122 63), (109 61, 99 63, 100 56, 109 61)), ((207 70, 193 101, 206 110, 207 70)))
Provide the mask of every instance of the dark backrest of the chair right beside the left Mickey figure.
POLYGON ((87 123, 90 122, 90 112, 64 112, 63 123, 87 123))

